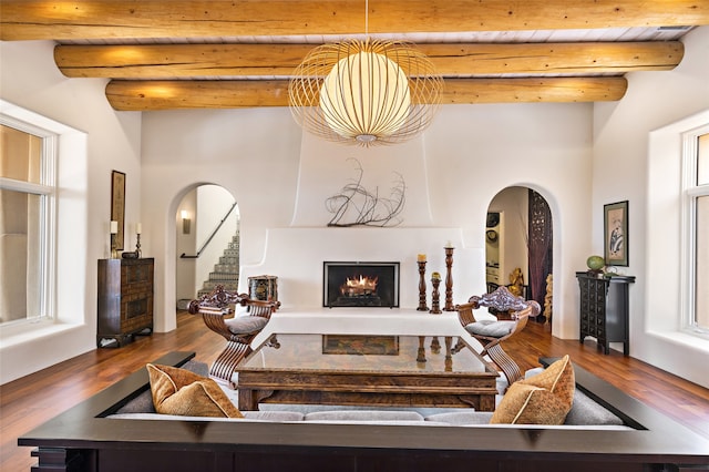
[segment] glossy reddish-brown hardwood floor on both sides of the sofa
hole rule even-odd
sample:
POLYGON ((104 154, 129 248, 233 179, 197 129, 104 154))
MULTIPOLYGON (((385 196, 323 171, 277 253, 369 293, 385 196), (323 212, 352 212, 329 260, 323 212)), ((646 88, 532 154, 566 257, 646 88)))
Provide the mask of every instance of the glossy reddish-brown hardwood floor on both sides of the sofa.
MULTIPOLYGON (((0 386, 0 470, 29 471, 37 460, 30 456, 30 448, 17 445, 18 437, 146 362, 173 350, 186 350, 212 363, 224 342, 199 317, 181 312, 175 331, 140 337, 120 349, 96 349, 0 386)), ((534 321, 505 342, 505 350, 523 370, 537 367, 540 357, 568 353, 584 369, 709 438, 709 389, 618 351, 605 356, 592 340, 582 345, 554 338, 548 325, 534 321)))

